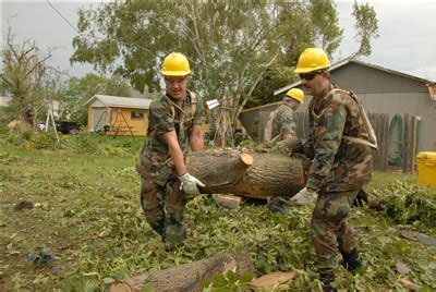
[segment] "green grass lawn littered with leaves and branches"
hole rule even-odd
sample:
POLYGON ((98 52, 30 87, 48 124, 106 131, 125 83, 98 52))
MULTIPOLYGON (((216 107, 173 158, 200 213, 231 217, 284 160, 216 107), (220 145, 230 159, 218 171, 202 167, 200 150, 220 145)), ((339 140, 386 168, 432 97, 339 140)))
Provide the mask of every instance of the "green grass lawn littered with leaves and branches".
MULTIPOLYGON (((308 239, 310 207, 283 216, 252 203, 227 209, 211 197, 199 196, 186 208, 190 238, 185 245, 167 252, 145 222, 140 205, 134 165, 141 143, 117 137, 119 145, 113 145, 113 139, 98 137, 95 146, 93 137, 86 139, 82 145, 94 145, 93 149, 105 149, 108 144, 123 151, 35 150, 0 144, 0 291, 101 291, 114 279, 223 251, 249 253, 257 276, 296 271, 291 289, 317 287, 308 239), (23 200, 35 207, 16 210, 23 200), (56 260, 38 266, 27 259, 29 253, 43 248, 56 260)), ((392 190, 413 193, 415 179, 375 172, 367 190, 384 193, 386 186, 401 181, 409 188, 392 190)), ((420 192, 434 194, 432 190, 420 192)), ((396 270, 402 261, 411 271, 401 277, 436 289, 436 247, 400 235, 404 229, 436 235, 435 227, 419 221, 399 224, 367 207, 353 209, 350 220, 356 227, 365 268, 355 276, 340 269, 339 288, 404 291, 396 270)))

